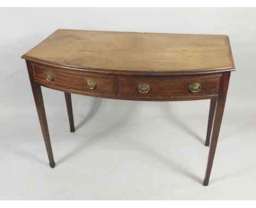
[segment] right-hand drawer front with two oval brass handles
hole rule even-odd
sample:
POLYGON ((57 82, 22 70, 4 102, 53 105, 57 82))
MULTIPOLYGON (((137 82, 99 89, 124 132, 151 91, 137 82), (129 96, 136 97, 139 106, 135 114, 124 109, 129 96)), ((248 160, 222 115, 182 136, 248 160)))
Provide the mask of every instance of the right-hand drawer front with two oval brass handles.
POLYGON ((119 77, 118 95, 143 99, 217 95, 220 76, 119 77))

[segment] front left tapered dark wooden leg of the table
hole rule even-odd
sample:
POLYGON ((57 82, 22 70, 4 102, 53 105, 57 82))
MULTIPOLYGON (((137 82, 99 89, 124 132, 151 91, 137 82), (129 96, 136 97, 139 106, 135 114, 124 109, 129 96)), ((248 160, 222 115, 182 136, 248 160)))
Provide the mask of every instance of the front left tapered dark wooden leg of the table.
POLYGON ((36 107, 37 107, 37 114, 38 114, 41 129, 42 129, 43 137, 44 137, 44 143, 45 143, 46 151, 49 158, 49 164, 51 168, 54 168, 55 162, 53 157, 53 150, 51 149, 51 141, 50 141, 46 115, 45 115, 41 86, 38 83, 34 82, 32 67, 31 67, 31 64, 28 62, 27 62, 27 69, 28 69, 28 75, 30 76, 31 88, 34 95, 34 102, 36 103, 36 107))

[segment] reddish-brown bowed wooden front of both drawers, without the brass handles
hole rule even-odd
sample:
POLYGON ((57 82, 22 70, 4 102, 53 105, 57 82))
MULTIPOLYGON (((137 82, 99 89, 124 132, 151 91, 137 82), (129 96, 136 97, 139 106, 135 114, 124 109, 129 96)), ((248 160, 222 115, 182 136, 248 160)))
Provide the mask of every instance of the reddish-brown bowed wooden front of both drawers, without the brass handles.
POLYGON ((72 93, 91 96, 104 96, 114 99, 129 100, 186 100, 206 99, 218 96, 218 86, 221 74, 198 75, 198 76, 114 76, 100 75, 88 72, 63 71, 54 67, 33 64, 35 81, 45 87, 57 90, 72 90, 72 93), (49 81, 46 75, 53 77, 49 81), (86 81, 96 83, 95 89, 86 87, 86 81), (117 83, 117 87, 115 87, 117 83), (200 83, 202 89, 198 93, 192 93, 189 86, 200 83), (138 91, 139 84, 148 84, 150 90, 147 94, 138 91))

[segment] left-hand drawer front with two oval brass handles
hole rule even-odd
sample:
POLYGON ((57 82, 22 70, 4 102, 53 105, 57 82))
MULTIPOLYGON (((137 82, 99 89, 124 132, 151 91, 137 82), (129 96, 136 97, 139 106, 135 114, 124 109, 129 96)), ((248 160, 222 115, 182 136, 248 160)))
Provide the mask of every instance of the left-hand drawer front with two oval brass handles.
POLYGON ((95 95, 114 95, 114 77, 85 72, 63 71, 48 66, 33 65, 34 78, 45 87, 74 90, 95 95), (86 87, 87 86, 87 87, 86 87))

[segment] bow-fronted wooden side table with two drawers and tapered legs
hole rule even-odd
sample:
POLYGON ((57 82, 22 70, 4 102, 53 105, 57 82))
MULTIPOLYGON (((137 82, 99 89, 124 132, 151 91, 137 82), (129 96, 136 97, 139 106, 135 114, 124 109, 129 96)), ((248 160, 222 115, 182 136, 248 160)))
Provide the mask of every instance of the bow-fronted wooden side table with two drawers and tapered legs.
POLYGON ((228 36, 58 29, 22 58, 51 168, 55 162, 41 86, 65 92, 71 132, 71 93, 141 101, 211 99, 205 142, 209 146, 211 138, 211 145, 203 180, 208 185, 235 70, 228 36))

